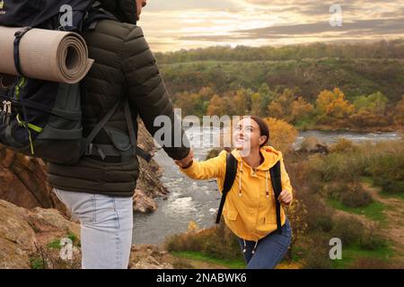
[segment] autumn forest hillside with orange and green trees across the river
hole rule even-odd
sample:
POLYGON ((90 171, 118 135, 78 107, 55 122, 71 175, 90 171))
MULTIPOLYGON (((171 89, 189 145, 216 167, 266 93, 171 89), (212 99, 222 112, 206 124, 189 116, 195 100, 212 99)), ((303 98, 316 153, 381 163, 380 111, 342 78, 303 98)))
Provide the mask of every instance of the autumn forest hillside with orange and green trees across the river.
POLYGON ((285 119, 298 128, 403 125, 404 41, 156 54, 183 115, 285 119))

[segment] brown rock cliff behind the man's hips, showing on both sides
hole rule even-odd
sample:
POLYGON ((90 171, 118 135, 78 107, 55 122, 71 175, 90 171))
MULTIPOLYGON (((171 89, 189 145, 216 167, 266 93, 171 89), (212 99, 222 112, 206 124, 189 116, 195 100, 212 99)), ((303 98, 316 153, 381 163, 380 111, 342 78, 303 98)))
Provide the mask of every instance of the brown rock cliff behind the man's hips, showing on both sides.
MULTIPOLYGON (((139 120, 138 144, 147 152, 155 152, 153 137, 139 120)), ((139 158, 141 173, 137 180, 135 210, 150 212, 157 208, 155 197, 165 196, 162 186, 162 169, 152 160, 147 163, 139 158)), ((40 159, 24 156, 0 145, 0 199, 28 209, 34 207, 56 208, 67 214, 46 183, 46 165, 40 159)))

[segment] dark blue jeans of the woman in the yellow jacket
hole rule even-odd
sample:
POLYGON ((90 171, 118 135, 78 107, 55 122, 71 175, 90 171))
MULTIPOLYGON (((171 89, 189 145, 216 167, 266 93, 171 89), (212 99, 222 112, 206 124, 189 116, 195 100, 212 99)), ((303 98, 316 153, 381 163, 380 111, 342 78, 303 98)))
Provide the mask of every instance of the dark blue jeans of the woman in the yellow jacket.
MULTIPOLYGON (((285 257, 291 241, 292 229, 287 219, 284 226, 282 226, 282 234, 277 234, 277 231, 274 231, 269 233, 265 238, 259 239, 254 254, 252 254, 252 250, 256 242, 246 240, 246 252, 243 253, 243 256, 247 263, 247 269, 275 268, 285 257)), ((239 242, 243 250, 244 240, 239 239, 239 242)))

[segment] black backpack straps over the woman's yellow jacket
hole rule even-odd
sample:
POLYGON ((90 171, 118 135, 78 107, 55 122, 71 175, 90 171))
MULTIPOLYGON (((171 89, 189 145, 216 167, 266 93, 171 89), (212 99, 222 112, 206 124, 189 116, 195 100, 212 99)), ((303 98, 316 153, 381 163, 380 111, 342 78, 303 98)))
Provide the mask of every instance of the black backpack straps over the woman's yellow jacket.
MULTIPOLYGON (((282 192, 282 181, 281 181, 281 170, 280 170, 280 161, 269 170, 271 175, 271 183, 274 188, 274 194, 276 198, 276 213, 277 213, 277 233, 282 234, 282 226, 281 226, 281 218, 280 218, 280 203, 277 200, 277 197, 282 192)), ((216 223, 220 223, 220 219, 222 217, 224 203, 226 200, 227 193, 233 187, 234 179, 237 174, 237 160, 234 158, 231 152, 227 152, 226 156, 226 173, 224 176, 224 187, 222 191, 222 199, 220 201, 219 209, 216 215, 216 223)))

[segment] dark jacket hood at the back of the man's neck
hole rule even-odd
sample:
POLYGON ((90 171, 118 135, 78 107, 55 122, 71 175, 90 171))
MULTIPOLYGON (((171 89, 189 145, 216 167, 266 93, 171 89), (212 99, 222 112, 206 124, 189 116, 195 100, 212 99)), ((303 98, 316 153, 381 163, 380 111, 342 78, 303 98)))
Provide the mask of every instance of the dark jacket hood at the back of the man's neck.
POLYGON ((137 8, 136 0, 99 0, 110 13, 113 13, 119 21, 136 24, 137 8))

